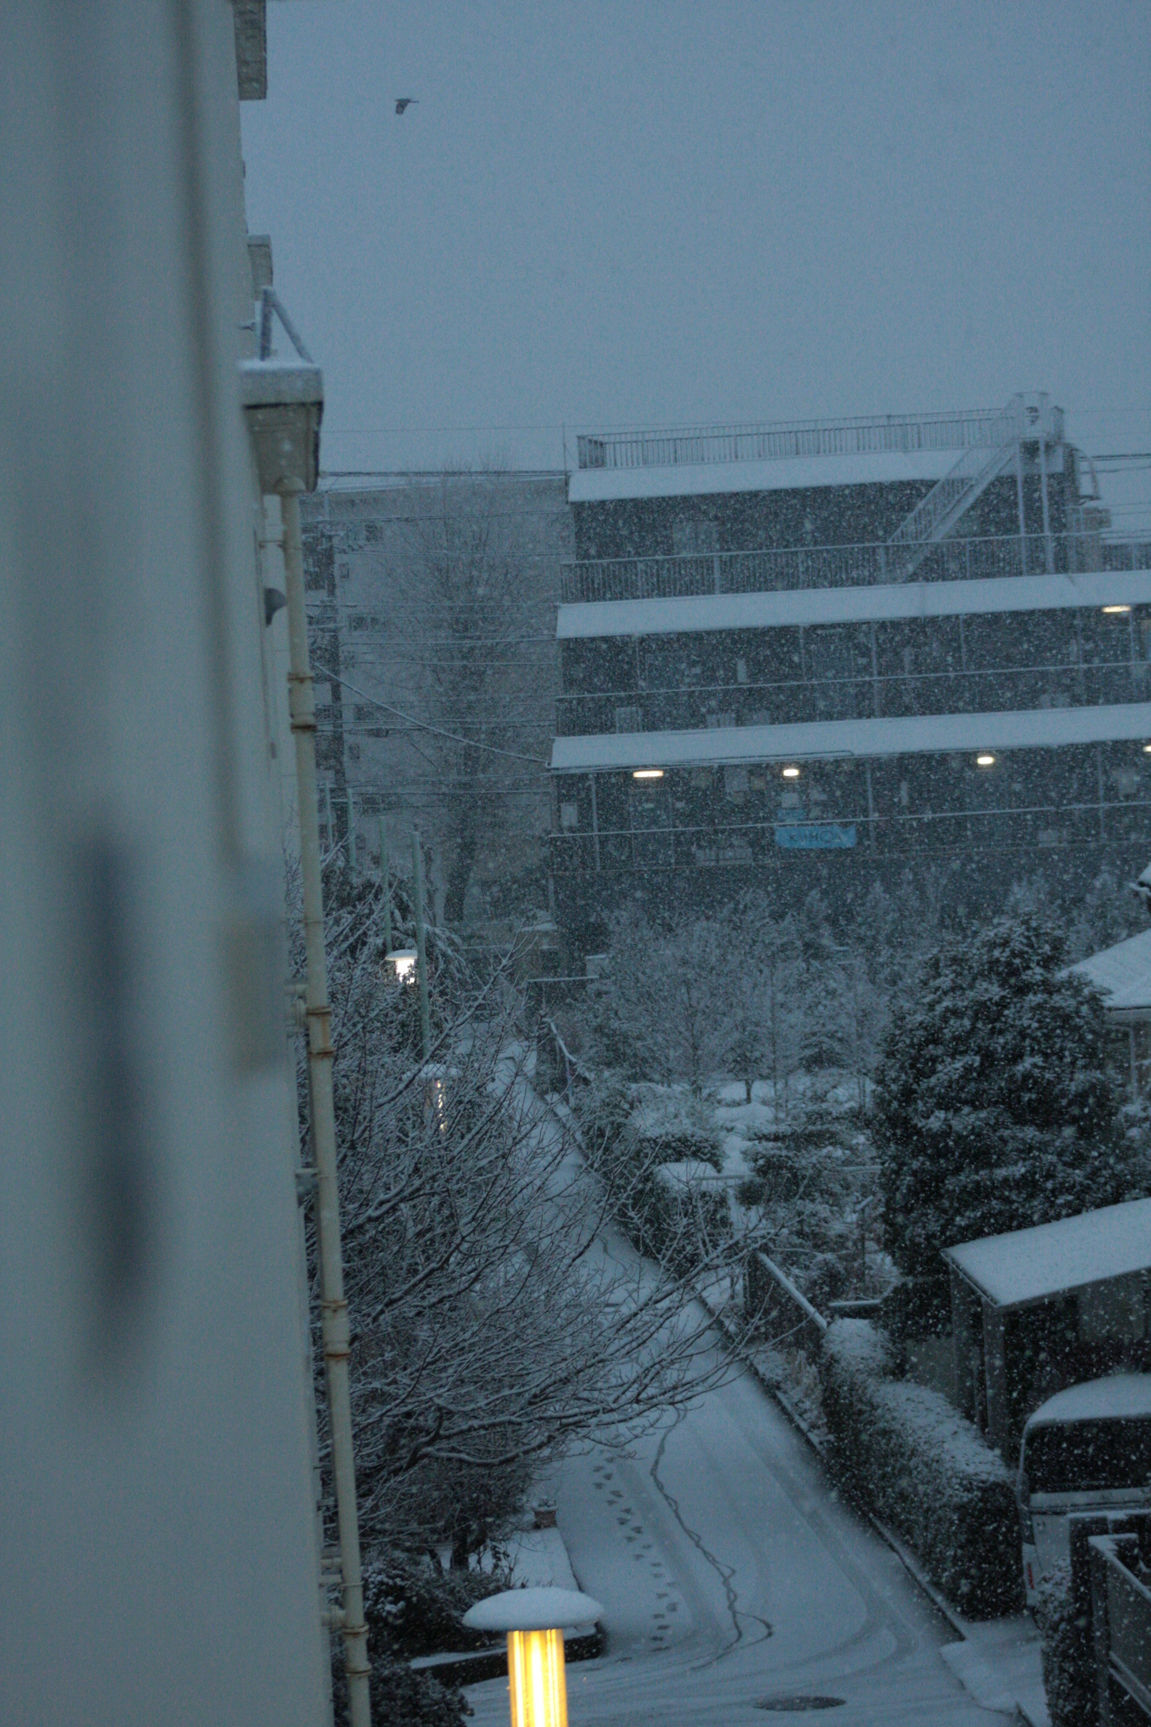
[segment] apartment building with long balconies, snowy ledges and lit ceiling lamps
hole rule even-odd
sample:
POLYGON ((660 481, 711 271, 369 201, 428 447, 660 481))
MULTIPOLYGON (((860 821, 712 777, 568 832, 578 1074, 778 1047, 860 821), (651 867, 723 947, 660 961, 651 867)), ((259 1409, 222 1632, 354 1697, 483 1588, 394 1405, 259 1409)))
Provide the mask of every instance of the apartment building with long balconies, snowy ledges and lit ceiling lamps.
POLYGON ((1151 838, 1151 546, 1047 395, 1001 411, 582 437, 557 613, 556 901, 968 901, 1151 838))

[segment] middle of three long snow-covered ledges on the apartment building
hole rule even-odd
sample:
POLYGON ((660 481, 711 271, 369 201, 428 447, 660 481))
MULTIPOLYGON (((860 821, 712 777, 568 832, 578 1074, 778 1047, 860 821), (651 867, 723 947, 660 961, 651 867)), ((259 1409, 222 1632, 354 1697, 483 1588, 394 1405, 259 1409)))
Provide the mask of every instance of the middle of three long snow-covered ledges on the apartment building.
POLYGON ((787 623, 866 623, 1116 604, 1151 604, 1151 572, 885 582, 873 587, 811 587, 777 594, 702 594, 692 599, 599 599, 559 606, 556 637, 675 636, 778 629, 787 623))

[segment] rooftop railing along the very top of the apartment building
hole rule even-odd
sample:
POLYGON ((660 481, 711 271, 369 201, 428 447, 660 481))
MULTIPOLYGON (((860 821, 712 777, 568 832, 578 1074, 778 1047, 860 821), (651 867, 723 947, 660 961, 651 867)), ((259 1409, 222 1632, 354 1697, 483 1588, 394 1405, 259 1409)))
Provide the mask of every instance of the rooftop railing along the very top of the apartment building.
POLYGON ((666 468, 708 461, 785 461, 789 456, 873 456, 970 449, 1003 442, 1003 409, 947 414, 870 414, 861 420, 782 420, 578 435, 580 468, 666 468))

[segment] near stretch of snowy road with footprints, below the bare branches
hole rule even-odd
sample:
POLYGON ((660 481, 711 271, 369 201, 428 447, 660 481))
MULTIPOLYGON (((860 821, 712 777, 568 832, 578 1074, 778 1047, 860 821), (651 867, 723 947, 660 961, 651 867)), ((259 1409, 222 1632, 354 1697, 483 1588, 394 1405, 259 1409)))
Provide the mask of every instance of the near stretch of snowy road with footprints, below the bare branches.
MULTIPOLYGON (((747 1373, 632 1459, 568 1459, 557 1504, 607 1630, 606 1654, 568 1670, 571 1727, 763 1727, 796 1718, 764 1701, 815 1696, 844 1699, 823 1717, 842 1727, 1006 1718, 961 1689, 939 1656, 954 1634, 747 1373)), ((476 1727, 504 1727, 504 1680, 468 1694, 476 1727)))

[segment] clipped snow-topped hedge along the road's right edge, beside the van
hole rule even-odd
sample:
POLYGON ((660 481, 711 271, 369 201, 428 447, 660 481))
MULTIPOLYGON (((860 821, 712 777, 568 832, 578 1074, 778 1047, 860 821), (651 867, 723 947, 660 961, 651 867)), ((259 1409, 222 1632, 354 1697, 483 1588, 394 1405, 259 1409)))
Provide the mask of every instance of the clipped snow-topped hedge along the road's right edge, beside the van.
POLYGON ((820 1382, 839 1470, 963 1613, 1016 1611, 1018 1511, 1008 1470, 946 1397, 889 1378, 890 1366, 887 1338, 866 1319, 828 1326, 820 1382))

